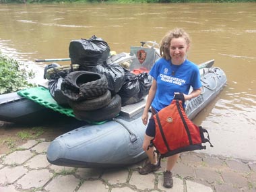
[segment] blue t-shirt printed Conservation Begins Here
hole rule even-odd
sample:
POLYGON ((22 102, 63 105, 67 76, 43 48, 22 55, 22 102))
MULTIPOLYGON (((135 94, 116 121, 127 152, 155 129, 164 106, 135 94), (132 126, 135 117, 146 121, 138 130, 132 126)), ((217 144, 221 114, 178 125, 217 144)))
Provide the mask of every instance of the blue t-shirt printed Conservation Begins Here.
POLYGON ((153 65, 150 75, 157 82, 152 102, 152 107, 157 111, 172 102, 174 92, 189 94, 191 86, 193 90, 201 88, 199 67, 187 59, 181 65, 172 65, 170 60, 160 58, 153 65))

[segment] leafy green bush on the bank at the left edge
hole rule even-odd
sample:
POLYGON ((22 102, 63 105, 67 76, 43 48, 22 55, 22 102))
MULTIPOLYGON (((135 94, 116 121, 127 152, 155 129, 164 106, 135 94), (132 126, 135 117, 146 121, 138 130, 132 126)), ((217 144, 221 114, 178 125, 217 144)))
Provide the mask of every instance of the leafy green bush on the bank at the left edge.
POLYGON ((16 92, 34 86, 28 79, 34 77, 32 70, 0 52, 0 94, 16 92))

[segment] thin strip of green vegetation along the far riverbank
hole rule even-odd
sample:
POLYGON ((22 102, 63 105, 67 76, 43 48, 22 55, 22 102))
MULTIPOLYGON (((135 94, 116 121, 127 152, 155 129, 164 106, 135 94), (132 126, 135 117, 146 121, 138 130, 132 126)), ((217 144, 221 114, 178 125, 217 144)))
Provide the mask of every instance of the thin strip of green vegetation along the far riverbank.
POLYGON ((236 3, 256 0, 0 0, 0 3, 236 3))

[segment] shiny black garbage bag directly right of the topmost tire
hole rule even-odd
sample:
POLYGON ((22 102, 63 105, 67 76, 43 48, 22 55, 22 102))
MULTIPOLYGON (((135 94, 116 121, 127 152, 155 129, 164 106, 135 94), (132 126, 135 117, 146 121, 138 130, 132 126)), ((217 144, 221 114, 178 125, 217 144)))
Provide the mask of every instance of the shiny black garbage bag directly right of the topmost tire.
POLYGON ((108 79, 108 90, 110 90, 112 95, 117 94, 125 82, 125 69, 118 63, 107 64, 104 62, 102 65, 93 67, 92 72, 106 76, 106 79, 108 79))

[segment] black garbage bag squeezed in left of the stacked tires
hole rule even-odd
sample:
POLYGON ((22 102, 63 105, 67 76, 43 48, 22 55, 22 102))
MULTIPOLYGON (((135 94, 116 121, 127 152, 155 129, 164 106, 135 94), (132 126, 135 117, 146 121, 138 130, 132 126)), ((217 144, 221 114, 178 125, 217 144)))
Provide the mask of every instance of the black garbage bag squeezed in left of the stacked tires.
POLYGON ((69 106, 67 98, 61 92, 61 84, 63 79, 63 77, 59 77, 49 80, 48 88, 51 96, 58 104, 62 106, 69 106))

